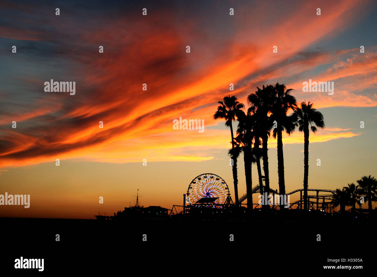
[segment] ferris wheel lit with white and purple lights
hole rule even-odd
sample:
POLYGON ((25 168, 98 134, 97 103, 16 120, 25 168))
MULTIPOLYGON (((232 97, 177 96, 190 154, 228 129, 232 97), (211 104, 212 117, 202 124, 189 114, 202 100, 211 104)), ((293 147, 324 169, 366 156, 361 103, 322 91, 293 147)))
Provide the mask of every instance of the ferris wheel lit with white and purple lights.
POLYGON ((211 207, 216 207, 216 204, 225 204, 228 200, 230 192, 227 183, 213 173, 196 176, 187 189, 186 204, 192 206, 208 203, 211 207))

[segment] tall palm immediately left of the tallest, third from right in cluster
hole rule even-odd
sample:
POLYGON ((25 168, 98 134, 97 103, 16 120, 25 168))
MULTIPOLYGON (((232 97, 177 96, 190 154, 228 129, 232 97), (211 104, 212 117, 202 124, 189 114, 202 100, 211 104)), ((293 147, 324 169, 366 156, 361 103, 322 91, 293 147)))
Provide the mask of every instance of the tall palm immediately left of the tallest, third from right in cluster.
MULTIPOLYGON (((270 178, 268 173, 268 148, 267 148, 267 140, 268 136, 270 136, 270 130, 272 127, 272 122, 268 113, 271 111, 272 104, 273 104, 273 96, 274 96, 274 87, 268 85, 265 87, 262 86, 262 89, 257 87, 257 91, 255 93, 251 93, 247 96, 247 102, 250 105, 248 109, 248 113, 253 114, 256 117, 257 122, 259 125, 257 126, 258 129, 258 136, 262 138, 262 157, 263 157, 263 170, 265 176, 265 191, 267 192, 267 197, 270 191, 270 178)), ((269 208, 268 206, 266 206, 269 208)))

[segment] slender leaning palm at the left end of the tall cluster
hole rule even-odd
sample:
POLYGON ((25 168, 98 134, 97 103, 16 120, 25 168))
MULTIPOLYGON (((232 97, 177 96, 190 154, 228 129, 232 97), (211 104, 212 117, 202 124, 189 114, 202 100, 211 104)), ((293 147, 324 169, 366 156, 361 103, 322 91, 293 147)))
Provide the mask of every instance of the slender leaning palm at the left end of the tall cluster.
MULTIPOLYGON (((225 126, 230 127, 230 135, 231 135, 231 144, 232 149, 234 149, 234 136, 233 136, 233 127, 232 121, 235 121, 238 115, 242 112, 242 109, 245 108, 245 105, 239 103, 237 101, 236 96, 224 96, 224 101, 218 102, 220 106, 218 106, 217 111, 213 115, 213 119, 223 118, 225 119, 225 126)), ((238 206, 238 178, 237 178, 237 159, 234 159, 233 154, 235 152, 231 152, 231 159, 233 159, 233 184, 234 184, 234 197, 236 197, 236 205, 238 206), (235 168, 235 171, 234 171, 235 168)), ((238 157, 238 156, 237 156, 238 157)))

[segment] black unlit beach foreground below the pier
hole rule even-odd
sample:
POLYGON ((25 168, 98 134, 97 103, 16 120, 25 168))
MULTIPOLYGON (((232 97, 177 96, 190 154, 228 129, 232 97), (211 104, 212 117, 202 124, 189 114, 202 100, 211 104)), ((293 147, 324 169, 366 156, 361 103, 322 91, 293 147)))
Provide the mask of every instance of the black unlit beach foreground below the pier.
POLYGON ((44 259, 43 272, 50 273, 138 268, 145 274, 172 271, 178 275, 173 268, 179 267, 182 272, 195 271, 194 275, 218 275, 213 271, 251 266, 270 275, 282 265, 287 275, 297 269, 357 274, 373 269, 377 245, 374 219, 320 212, 253 220, 242 216, 129 221, 0 218, 0 226, 2 272, 22 274, 38 269, 15 269, 15 259, 21 256, 44 259), (327 265, 363 269, 324 269, 327 265))

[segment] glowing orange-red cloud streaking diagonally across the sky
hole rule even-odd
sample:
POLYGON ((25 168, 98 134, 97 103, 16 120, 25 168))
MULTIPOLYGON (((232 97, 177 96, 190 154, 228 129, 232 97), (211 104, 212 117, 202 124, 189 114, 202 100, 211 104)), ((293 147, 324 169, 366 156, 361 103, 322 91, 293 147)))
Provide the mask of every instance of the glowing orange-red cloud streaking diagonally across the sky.
MULTIPOLYGON (((213 159, 212 151, 230 147, 228 130, 213 127, 204 133, 172 130, 172 121, 182 116, 204 119, 205 127, 219 124, 212 116, 217 101, 230 93, 230 83, 236 85, 234 92, 244 101, 256 85, 296 76, 287 86, 296 89, 298 101, 310 97, 318 108, 376 106, 376 96, 357 94, 376 84, 375 50, 363 56, 352 55, 355 49, 337 51, 334 57, 331 53, 304 51, 315 41, 357 21, 361 15, 356 9, 357 2, 342 1, 328 6, 319 20, 311 4, 300 4, 291 12, 294 16, 287 15, 289 20, 271 21, 268 32, 247 28, 244 21, 242 26, 237 22, 234 41, 227 42, 219 55, 211 59, 196 55, 199 50, 195 47, 192 53, 185 53, 192 30, 185 31, 169 20, 162 22, 156 15, 149 15, 143 21, 114 20, 101 28, 89 29, 80 33, 82 42, 97 47, 104 38, 107 41, 103 55, 94 51, 78 58, 84 65, 80 72, 83 87, 90 89, 77 93, 75 98, 62 98, 61 105, 43 105, 19 115, 17 120, 25 121, 54 113, 47 123, 40 121, 40 125, 30 125, 22 133, 6 130, 0 139, 0 144, 5 146, 0 152, 0 166, 54 162, 55 158, 103 162, 135 162, 147 156, 151 161, 213 159), (129 28, 124 28, 125 24, 129 28), (278 46, 276 54, 272 52, 274 45, 278 46), (300 92, 303 74, 329 62, 332 65, 312 79, 348 78, 352 79, 348 80, 352 86, 337 81, 333 97, 300 92), (146 91, 142 90, 144 83, 146 91), (104 122, 104 129, 98 127, 99 121, 104 122), (203 153, 203 149, 213 150, 203 153)), ((247 12, 255 16, 248 16, 250 23, 261 16, 256 10, 241 11, 247 12)), ((73 28, 67 26, 68 30, 73 28)), ((23 35, 17 32, 17 36, 23 35)), ((31 34, 31 37, 43 35, 31 34)), ((208 43, 210 50, 216 51, 218 47, 216 43, 208 43)), ((12 116, 6 116, 0 124, 9 122, 12 116)), ((312 136, 311 142, 358 135, 346 131, 321 131, 312 136)), ((296 132, 285 138, 284 143, 303 143, 303 136, 296 132)))

